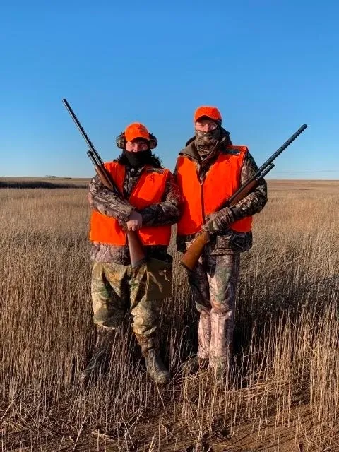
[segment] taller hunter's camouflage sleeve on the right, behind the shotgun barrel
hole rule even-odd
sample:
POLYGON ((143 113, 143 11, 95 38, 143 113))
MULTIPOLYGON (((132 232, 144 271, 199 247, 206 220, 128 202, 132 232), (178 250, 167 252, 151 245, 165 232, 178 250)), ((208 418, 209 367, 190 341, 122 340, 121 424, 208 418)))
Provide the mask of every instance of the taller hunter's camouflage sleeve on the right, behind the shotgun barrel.
MULTIPOLYGON (((257 171, 258 167, 254 158, 250 153, 247 153, 242 167, 241 183, 244 184, 257 171)), ((232 208, 226 207, 211 215, 210 221, 203 229, 207 229, 215 234, 225 234, 230 223, 260 212, 266 202, 267 184, 263 179, 254 191, 251 191, 250 194, 232 206, 232 208)))

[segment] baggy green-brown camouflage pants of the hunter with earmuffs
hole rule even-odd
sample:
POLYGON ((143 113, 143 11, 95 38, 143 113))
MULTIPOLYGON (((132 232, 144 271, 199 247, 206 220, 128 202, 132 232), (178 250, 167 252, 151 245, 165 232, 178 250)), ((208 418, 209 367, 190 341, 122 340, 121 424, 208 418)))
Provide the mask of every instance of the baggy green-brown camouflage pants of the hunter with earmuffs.
POLYGON ((93 262, 93 321, 106 328, 117 328, 126 311, 133 317, 136 335, 152 336, 157 331, 162 299, 146 299, 147 268, 119 263, 93 262))

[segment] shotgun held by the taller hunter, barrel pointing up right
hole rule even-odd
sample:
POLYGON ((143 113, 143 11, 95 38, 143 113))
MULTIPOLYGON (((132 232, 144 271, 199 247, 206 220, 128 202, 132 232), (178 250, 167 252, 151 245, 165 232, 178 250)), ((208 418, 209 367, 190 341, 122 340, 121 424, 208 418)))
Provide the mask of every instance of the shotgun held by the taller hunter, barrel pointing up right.
MULTIPOLYGON (((229 198, 225 203, 220 206, 218 210, 221 210, 225 207, 232 207, 235 204, 237 204, 239 201, 241 201, 245 196, 251 193, 256 186, 258 186, 259 182, 263 177, 266 176, 268 172, 270 172, 271 169, 274 168, 273 160, 275 160, 278 155, 280 155, 283 150, 289 146, 292 141, 295 141, 295 138, 300 135, 305 129, 307 128, 307 125, 304 124, 301 126, 295 133, 293 133, 290 138, 282 145, 278 150, 275 151, 273 155, 271 155, 268 160, 266 160, 263 165, 258 169, 256 174, 252 176, 250 179, 248 179, 240 188, 229 198)), ((207 231, 201 232, 196 239, 192 242, 191 246, 189 246, 189 249, 184 253, 184 256, 182 256, 182 259, 180 261, 180 264, 186 268, 186 270, 193 271, 196 264, 198 263, 198 260, 203 252, 203 248, 208 242, 210 241, 210 234, 207 231)))

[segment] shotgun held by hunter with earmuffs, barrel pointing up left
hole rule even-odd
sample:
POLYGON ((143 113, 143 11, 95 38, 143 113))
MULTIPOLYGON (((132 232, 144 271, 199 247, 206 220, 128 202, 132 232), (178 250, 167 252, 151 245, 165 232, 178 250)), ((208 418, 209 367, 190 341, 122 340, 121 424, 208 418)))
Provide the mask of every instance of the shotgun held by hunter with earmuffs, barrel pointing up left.
MULTIPOLYGON (((71 105, 69 105, 69 102, 67 102, 66 99, 63 99, 62 102, 64 102, 64 106, 71 115, 73 121, 76 123, 76 126, 78 127, 81 135, 83 136, 85 142, 88 144, 88 147, 90 148, 90 150, 88 150, 87 152, 87 155, 88 157, 90 157, 90 160, 92 160, 93 165, 95 167, 95 172, 100 177, 102 184, 104 184, 107 187, 107 189, 114 191, 114 193, 119 194, 121 196, 119 190, 117 189, 117 186, 114 184, 111 174, 109 174, 109 172, 105 168, 104 162, 102 162, 100 155, 97 153, 97 150, 95 149, 93 143, 90 141, 90 138, 88 138, 88 135, 84 131, 83 126, 76 117, 76 114, 73 112, 71 105)), ((146 261, 145 250, 143 249, 143 245, 140 242, 137 232, 126 231, 126 235, 127 242, 129 244, 129 254, 131 256, 131 266, 132 268, 136 268, 138 266, 141 266, 142 263, 145 263, 146 261)))

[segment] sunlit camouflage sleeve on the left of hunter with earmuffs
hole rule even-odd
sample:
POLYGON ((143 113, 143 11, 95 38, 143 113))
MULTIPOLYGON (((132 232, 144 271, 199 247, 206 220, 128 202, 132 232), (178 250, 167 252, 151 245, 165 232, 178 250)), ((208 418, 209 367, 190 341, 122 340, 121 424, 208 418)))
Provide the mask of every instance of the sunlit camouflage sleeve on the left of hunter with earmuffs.
POLYGON ((133 210, 131 204, 124 200, 119 194, 114 193, 105 187, 98 176, 93 177, 88 187, 88 201, 90 207, 113 217, 120 222, 129 220, 129 215, 133 210))

